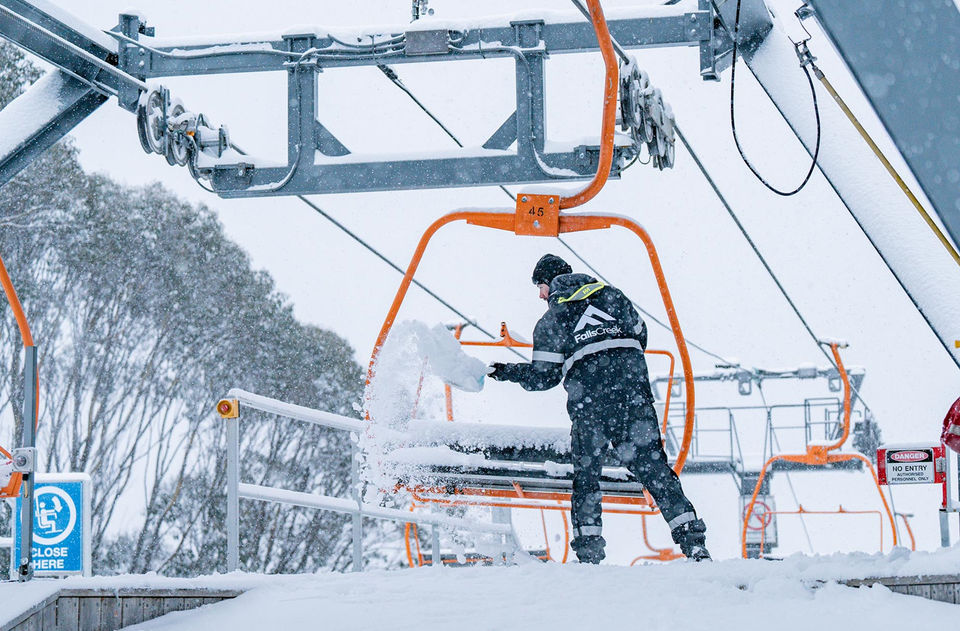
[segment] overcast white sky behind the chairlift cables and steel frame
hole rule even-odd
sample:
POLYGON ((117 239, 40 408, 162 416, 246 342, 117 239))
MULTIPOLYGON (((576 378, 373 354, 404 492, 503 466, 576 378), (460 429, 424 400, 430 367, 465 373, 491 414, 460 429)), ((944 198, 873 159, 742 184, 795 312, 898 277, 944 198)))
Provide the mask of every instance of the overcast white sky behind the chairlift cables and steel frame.
MULTIPOLYGON (((607 0, 604 6, 638 3, 607 0)), ((789 15, 799 2, 778 0, 775 4, 789 15)), ((71 0, 61 6, 108 29, 116 24, 120 12, 130 8, 130 0, 71 0)), ((430 6, 440 19, 572 8, 567 0, 432 0, 430 6)), ((362 30, 366 24, 402 25, 410 16, 409 0, 144 0, 138 8, 159 37, 287 29, 296 24, 362 30)), ((821 67, 867 121, 870 131, 889 148, 829 44, 819 33, 814 35, 811 48, 820 57, 821 67)), ((823 177, 815 174, 809 186, 792 198, 767 192, 743 166, 732 142, 729 71, 719 84, 702 82, 695 48, 643 50, 636 55, 654 84, 662 88, 678 123, 814 331, 821 337, 850 342, 844 359, 848 365, 866 368, 862 395, 877 415, 885 439, 935 442, 943 415, 960 391, 960 371, 823 177)), ((599 55, 561 56, 547 66, 548 137, 597 135, 602 77, 599 55)), ((396 70, 468 145, 481 144, 513 111, 512 62, 401 65, 396 70)), ((784 72, 805 82, 798 68, 785 68, 784 72)), ((285 155, 285 77, 218 76, 176 79, 167 84, 188 109, 203 111, 227 124, 233 139, 249 151, 280 158, 285 155)), ((376 69, 327 71, 321 78, 320 94, 321 121, 352 150, 453 147, 376 69)), ((833 107, 825 94, 821 96, 823 107, 833 107)), ((738 74, 737 111, 738 131, 754 163, 776 184, 795 185, 809 158, 747 72, 738 74)), ((270 271, 295 305, 297 315, 346 337, 358 360, 366 362, 399 274, 295 199, 221 200, 204 192, 185 169, 169 167, 159 156, 144 154, 133 117, 114 102, 101 107, 73 135, 81 162, 88 169, 107 172, 130 184, 160 181, 178 195, 216 209, 228 234, 250 253, 256 267, 270 271)), ((464 206, 510 206, 500 190, 489 188, 334 195, 313 200, 402 267, 422 231, 440 215, 464 206)), ((658 245, 688 338, 745 365, 826 365, 679 143, 675 169, 659 172, 636 165, 621 181, 611 181, 584 210, 627 214, 645 225, 658 245)), ((569 242, 611 282, 664 318, 649 264, 633 237, 586 234, 571 236, 569 242)), ((496 331, 499 322, 506 320, 511 328, 529 336, 543 311, 530 285, 530 271, 546 251, 568 258, 575 269, 586 271, 555 241, 454 226, 435 239, 418 278, 489 330, 496 331)), ((428 323, 455 319, 416 289, 411 291, 401 318, 428 323)), ((673 348, 668 332, 653 323, 650 331, 651 347, 673 348)), ((483 356, 485 360, 493 358, 483 356)), ((712 358, 698 352, 693 353, 693 360, 698 370, 714 365, 712 358)), ((652 364, 655 372, 661 370, 652 364)), ((755 397, 739 397, 735 388, 705 390, 704 396, 712 399, 701 398, 698 403, 759 402, 755 397)), ((776 396, 776 390, 771 387, 768 394, 776 396)), ((780 396, 786 400, 789 396, 827 394, 826 388, 820 387, 783 390, 780 396)), ((525 423, 566 422, 560 392, 527 395, 494 384, 477 400, 501 410, 496 413, 499 420, 503 420, 500 416, 512 416, 525 423)), ((470 403, 463 406, 465 417, 485 417, 482 407, 470 403)), ((746 431, 762 432, 762 426, 746 431)), ((921 511, 933 515, 929 504, 916 507, 916 512, 921 511)), ((920 530, 932 538, 935 528, 935 517, 931 517, 920 530)))

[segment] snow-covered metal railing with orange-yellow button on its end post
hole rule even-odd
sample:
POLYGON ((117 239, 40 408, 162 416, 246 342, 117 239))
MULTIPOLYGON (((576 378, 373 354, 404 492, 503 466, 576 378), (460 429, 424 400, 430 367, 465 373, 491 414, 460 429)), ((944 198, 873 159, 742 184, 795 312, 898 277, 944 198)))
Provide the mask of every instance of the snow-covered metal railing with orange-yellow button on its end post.
POLYGON ((329 510, 353 516, 353 568, 362 569, 363 538, 362 518, 387 519, 400 522, 414 522, 434 526, 433 547, 435 558, 439 557, 438 526, 469 528, 474 531, 498 535, 512 535, 509 524, 480 524, 474 521, 456 519, 445 515, 416 514, 392 508, 384 508, 364 503, 360 497, 360 471, 357 459, 357 447, 354 444, 350 459, 352 471, 352 494, 350 499, 289 491, 273 487, 245 484, 240 481, 240 409, 247 407, 284 418, 312 423, 322 427, 362 434, 366 424, 357 419, 322 412, 300 405, 284 403, 245 390, 234 388, 227 398, 217 404, 217 411, 227 425, 227 571, 232 572, 240 565, 240 499, 262 502, 277 502, 291 506, 329 510))

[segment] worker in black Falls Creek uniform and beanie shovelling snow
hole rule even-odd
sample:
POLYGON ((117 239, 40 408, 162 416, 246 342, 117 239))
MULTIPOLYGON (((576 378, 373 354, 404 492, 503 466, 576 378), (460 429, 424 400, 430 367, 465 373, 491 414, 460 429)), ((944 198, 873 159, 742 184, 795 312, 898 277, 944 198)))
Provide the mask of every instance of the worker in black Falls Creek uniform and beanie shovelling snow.
POLYGON ((573 423, 570 545, 581 562, 599 563, 605 556, 600 476, 608 445, 653 496, 683 554, 707 560, 706 526, 663 450, 643 356, 646 324, 619 289, 572 271, 560 257, 540 259, 533 283, 549 309, 533 332, 533 361, 491 364, 489 376, 525 390, 548 390, 563 381, 573 423))

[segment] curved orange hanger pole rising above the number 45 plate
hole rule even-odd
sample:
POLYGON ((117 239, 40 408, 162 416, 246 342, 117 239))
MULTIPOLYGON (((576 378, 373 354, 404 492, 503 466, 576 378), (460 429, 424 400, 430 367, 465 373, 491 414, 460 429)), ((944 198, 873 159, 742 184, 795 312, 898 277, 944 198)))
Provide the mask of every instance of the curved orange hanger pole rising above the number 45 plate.
POLYGON ((617 84, 620 81, 620 70, 617 68, 617 56, 613 50, 610 31, 607 29, 607 20, 603 15, 600 0, 587 0, 593 29, 597 33, 597 42, 600 44, 600 54, 603 55, 605 68, 603 84, 603 122, 600 129, 600 165, 593 176, 593 180, 576 195, 560 198, 560 209, 582 206, 596 197, 597 193, 607 183, 610 177, 610 167, 613 164, 613 135, 616 131, 617 117, 617 84))

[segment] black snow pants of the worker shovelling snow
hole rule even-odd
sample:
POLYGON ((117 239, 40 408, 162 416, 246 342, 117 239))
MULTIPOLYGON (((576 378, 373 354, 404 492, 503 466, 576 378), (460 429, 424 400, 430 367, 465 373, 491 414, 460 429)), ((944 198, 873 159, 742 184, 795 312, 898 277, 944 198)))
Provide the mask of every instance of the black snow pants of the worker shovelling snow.
MULTIPOLYGON (((596 373, 593 376, 600 377, 599 382, 607 381, 596 373)), ((594 395, 583 393, 567 404, 573 421, 572 546, 574 550, 593 548, 600 558, 605 543, 600 538, 600 473, 610 447, 620 464, 653 496, 671 531, 696 519, 680 478, 667 462, 649 382, 624 379, 622 373, 618 377, 616 383, 603 383, 605 387, 593 389, 594 395)))

